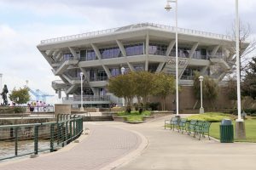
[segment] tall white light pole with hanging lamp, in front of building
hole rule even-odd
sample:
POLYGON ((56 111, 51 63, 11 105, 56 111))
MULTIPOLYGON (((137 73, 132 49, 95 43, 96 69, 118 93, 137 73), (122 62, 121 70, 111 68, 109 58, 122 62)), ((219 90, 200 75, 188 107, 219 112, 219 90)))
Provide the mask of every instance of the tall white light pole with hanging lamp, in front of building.
POLYGON ((176 8, 175 8, 175 47, 176 47, 176 115, 178 116, 178 68, 177 68, 177 0, 172 1, 172 0, 167 0, 166 1, 166 11, 170 11, 171 10, 171 5, 170 3, 175 3, 176 4, 176 8))

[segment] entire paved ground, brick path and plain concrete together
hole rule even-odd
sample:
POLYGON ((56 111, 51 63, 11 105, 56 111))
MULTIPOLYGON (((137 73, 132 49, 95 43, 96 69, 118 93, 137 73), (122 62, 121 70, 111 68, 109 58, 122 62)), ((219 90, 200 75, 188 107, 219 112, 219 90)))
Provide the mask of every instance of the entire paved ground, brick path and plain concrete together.
POLYGON ((85 122, 90 135, 83 135, 79 144, 34 159, 3 162, 0 169, 256 169, 256 144, 198 140, 164 129, 168 118, 142 124, 85 122))

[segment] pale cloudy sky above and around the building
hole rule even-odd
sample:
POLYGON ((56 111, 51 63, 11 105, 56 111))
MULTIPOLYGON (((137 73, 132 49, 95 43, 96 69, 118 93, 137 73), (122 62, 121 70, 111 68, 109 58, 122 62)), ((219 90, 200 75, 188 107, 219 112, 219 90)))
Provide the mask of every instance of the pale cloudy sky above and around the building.
MULTIPOLYGON (((174 26, 166 0, 0 0, 0 73, 9 90, 29 81, 32 89, 55 94, 59 79, 39 53, 41 40, 153 22, 174 26)), ((226 34, 235 20, 236 0, 178 0, 178 27, 226 34)), ((240 0, 241 21, 256 37, 256 1, 240 0)), ((2 86, 3 87, 3 86, 2 86)))

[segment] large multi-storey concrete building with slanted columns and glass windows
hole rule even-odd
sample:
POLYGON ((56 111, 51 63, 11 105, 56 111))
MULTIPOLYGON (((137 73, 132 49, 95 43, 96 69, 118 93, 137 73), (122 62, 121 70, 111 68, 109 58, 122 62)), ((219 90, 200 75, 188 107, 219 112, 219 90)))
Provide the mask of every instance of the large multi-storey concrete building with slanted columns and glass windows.
MULTIPOLYGON (((179 83, 193 84, 194 71, 221 81, 235 65, 233 40, 225 35, 178 28, 179 83)), ((245 44, 245 47, 247 45, 245 44)), ((84 73, 84 106, 121 105, 106 89, 109 77, 125 71, 175 75, 175 27, 142 23, 41 41, 38 50, 55 76, 55 91, 67 94, 63 103, 80 105, 80 72, 84 73)), ((60 95, 61 97, 61 95, 60 95)), ((181 103, 182 105, 182 103, 181 103)))

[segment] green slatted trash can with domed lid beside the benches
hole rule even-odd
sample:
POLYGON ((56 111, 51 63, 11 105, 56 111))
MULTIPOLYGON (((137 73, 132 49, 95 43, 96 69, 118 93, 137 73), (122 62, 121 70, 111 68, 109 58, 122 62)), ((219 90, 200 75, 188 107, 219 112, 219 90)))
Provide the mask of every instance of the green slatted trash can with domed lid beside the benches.
POLYGON ((219 125, 220 142, 233 143, 234 142, 234 127, 230 119, 224 119, 219 125))

